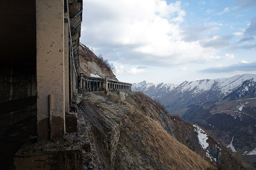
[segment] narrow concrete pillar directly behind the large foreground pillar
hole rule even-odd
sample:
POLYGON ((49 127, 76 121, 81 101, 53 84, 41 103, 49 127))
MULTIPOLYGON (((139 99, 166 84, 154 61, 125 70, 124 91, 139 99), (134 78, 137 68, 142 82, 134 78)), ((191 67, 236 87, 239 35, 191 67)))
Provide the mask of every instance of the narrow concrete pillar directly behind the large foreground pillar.
POLYGON ((69 113, 69 43, 68 43, 68 14, 64 13, 64 79, 65 79, 65 113, 69 113))

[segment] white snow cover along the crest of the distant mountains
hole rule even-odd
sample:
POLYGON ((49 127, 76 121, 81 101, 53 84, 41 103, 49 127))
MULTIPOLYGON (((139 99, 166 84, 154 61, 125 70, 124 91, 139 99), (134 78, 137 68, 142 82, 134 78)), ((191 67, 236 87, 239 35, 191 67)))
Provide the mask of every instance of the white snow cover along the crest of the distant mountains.
MULTIPOLYGON (((227 96, 238 87, 241 87, 244 81, 250 81, 250 84, 243 87, 240 96, 249 91, 250 86, 255 86, 256 74, 241 74, 235 75, 230 78, 217 78, 217 79, 201 79, 196 81, 184 81, 179 85, 165 84, 165 83, 149 83, 143 81, 134 83, 132 91, 142 91, 150 97, 160 97, 166 95, 168 92, 177 91, 179 95, 189 92, 192 97, 206 92, 219 92, 217 98, 227 96), (157 94, 159 93, 159 94, 157 94), (160 94, 161 93, 161 94, 160 94)), ((178 94, 177 94, 178 95, 178 94)))

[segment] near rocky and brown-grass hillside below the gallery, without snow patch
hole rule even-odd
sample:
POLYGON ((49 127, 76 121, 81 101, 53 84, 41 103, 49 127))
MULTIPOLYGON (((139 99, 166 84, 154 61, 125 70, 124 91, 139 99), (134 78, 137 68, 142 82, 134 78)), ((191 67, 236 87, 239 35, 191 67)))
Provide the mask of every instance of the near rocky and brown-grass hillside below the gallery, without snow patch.
MULTIPOLYGON (((170 136, 152 113, 145 112, 149 103, 140 102, 138 93, 126 93, 123 101, 117 93, 101 95, 88 93, 80 107, 90 120, 105 169, 213 168, 170 136)), ((152 109, 160 108, 155 105, 152 109)))

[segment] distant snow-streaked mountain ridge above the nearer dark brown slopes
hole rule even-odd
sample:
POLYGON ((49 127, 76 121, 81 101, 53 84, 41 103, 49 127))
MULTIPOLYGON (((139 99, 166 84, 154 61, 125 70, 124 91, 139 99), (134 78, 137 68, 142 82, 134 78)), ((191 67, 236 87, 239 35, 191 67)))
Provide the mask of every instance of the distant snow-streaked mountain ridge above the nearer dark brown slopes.
MULTIPOLYGON (((159 99, 167 108, 172 108, 182 100, 182 104, 205 104, 221 102, 226 97, 239 99, 241 97, 256 96, 256 74, 242 74, 230 78, 201 79, 198 81, 184 81, 175 84, 154 84, 147 81, 134 83, 132 91, 144 92, 153 99, 159 99)), ((175 112, 176 109, 169 109, 175 112)), ((175 112, 176 113, 176 112, 175 112)), ((182 115, 182 113, 178 113, 182 115)))

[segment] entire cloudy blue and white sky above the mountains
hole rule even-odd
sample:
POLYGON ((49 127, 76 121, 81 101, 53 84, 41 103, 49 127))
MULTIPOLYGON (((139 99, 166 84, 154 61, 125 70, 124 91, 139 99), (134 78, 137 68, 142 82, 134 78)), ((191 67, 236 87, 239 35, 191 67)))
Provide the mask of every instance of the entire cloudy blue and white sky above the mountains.
POLYGON ((80 42, 129 83, 256 74, 256 0, 84 0, 80 42))

